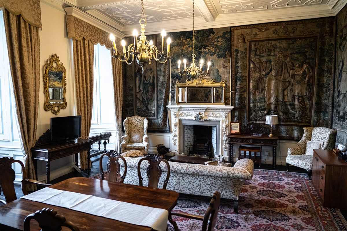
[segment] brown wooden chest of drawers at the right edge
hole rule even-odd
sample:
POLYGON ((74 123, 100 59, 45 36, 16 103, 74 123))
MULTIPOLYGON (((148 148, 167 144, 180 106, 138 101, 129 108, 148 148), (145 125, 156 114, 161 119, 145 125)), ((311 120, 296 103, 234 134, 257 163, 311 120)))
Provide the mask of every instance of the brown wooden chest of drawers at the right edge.
POLYGON ((314 149, 312 184, 324 207, 347 209, 347 162, 330 150, 314 149))

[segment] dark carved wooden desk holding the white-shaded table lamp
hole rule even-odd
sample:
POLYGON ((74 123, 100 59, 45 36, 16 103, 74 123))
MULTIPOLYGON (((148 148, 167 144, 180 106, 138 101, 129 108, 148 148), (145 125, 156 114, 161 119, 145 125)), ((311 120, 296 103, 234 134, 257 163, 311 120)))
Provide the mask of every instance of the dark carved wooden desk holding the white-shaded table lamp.
POLYGON ((261 136, 254 136, 253 133, 241 133, 241 134, 229 134, 228 145, 229 163, 232 160, 232 144, 249 144, 249 145, 261 145, 261 146, 272 146, 272 168, 276 169, 276 149, 277 149, 277 135, 262 134, 261 136))

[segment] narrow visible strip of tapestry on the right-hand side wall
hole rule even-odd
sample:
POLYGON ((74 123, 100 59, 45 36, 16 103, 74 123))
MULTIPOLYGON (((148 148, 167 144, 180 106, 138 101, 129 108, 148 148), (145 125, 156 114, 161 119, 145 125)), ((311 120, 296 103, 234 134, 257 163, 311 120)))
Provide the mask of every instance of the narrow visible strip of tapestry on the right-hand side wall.
POLYGON ((337 15, 336 80, 333 128, 337 130, 336 144, 347 144, 347 7, 337 15))

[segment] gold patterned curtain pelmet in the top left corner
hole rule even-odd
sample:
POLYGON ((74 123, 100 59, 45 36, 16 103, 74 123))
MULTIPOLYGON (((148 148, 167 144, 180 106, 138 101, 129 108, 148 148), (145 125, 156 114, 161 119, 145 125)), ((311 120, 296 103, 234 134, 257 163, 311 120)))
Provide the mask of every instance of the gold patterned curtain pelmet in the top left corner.
POLYGON ((30 25, 42 28, 40 0, 0 0, 0 9, 13 15, 22 15, 30 25))

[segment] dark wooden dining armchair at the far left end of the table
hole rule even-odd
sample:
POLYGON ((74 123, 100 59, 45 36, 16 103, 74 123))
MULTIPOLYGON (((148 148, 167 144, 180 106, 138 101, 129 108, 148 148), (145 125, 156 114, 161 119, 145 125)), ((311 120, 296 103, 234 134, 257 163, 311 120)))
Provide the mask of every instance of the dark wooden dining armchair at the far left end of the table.
MULTIPOLYGON (((11 202, 17 199, 14 181, 16 179, 15 170, 12 169, 12 163, 19 163, 22 167, 22 192, 27 195, 26 184, 36 184, 43 187, 51 186, 50 184, 45 184, 34 179, 26 179, 26 171, 23 162, 20 160, 15 160, 12 157, 2 157, 0 158, 0 186, 5 196, 6 202, 11 202)), ((3 202, 2 202, 3 203, 3 202)))

